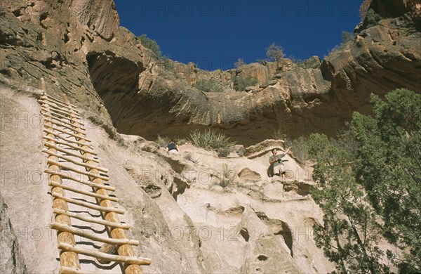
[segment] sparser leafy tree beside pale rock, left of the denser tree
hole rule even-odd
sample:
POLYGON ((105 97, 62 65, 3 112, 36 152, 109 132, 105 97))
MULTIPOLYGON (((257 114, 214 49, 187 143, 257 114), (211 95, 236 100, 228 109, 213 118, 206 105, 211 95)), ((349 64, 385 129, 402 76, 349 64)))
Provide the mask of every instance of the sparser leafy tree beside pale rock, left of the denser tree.
POLYGON ((377 247, 375 214, 352 173, 352 155, 345 145, 333 145, 323 134, 312 134, 309 147, 317 160, 313 178, 319 183, 312 196, 324 213, 323 226, 314 228, 317 246, 323 247, 339 272, 388 272, 379 262, 383 252, 377 247))

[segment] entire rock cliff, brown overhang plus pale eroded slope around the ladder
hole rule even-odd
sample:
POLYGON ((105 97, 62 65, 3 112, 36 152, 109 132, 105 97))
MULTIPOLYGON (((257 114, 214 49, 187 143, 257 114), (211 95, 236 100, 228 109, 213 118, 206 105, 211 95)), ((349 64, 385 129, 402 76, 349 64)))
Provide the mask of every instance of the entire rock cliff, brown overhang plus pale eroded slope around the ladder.
POLYGON ((1 1, 0 268, 58 269, 48 178, 36 176, 46 164, 35 100, 41 82, 91 117, 88 137, 128 211, 130 233, 142 242, 138 255, 152 258, 147 271, 332 271, 312 240, 321 211, 308 195, 309 170, 291 157, 289 181, 267 177, 269 150, 282 143, 262 143, 246 150, 246 158, 229 159, 186 145, 183 151, 199 161, 194 164, 138 136, 119 136, 110 124, 151 139, 213 127, 245 145, 275 129, 333 134, 352 111, 370 112, 370 92, 420 91, 421 5, 387 3, 372 5, 394 18, 363 22, 353 41, 322 62, 286 59, 205 72, 192 64, 164 66, 119 27, 111 0, 1 1), (258 84, 234 91, 234 81, 247 77, 258 84), (199 91, 192 87, 199 79, 213 79, 225 92, 199 91), (235 185, 226 189, 223 164, 238 168, 235 185))

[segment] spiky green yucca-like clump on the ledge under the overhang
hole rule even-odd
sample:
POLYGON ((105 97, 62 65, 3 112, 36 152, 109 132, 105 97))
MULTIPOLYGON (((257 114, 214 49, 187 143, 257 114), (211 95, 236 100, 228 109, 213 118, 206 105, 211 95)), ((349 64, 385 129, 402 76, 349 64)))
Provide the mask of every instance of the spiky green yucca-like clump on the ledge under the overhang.
POLYGON ((208 148, 218 150, 220 148, 227 148, 235 145, 235 142, 230 142, 229 137, 223 133, 216 133, 213 130, 206 130, 204 133, 200 131, 190 132, 190 140, 193 145, 200 148, 208 148))

